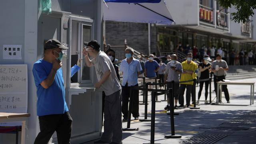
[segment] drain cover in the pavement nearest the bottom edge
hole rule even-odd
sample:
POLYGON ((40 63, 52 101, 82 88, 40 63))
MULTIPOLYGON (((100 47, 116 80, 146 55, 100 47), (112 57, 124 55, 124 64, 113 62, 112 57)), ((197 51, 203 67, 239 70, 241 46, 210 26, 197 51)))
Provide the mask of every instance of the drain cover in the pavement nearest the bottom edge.
POLYGON ((231 132, 202 132, 188 140, 184 140, 181 144, 214 144, 222 138, 228 136, 231 132))

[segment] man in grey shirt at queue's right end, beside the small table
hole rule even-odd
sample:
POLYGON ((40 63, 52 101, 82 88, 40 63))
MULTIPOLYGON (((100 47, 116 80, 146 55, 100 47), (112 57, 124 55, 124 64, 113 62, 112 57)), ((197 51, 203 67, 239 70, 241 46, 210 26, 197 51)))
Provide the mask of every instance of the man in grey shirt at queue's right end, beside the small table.
MULTIPOLYGON (((215 88, 216 96, 217 96, 217 82, 225 80, 225 71, 227 70, 228 70, 227 62, 221 59, 220 54, 216 54, 216 60, 212 62, 212 72, 214 72, 214 88, 215 88)), ((222 90, 224 91, 227 102, 230 103, 227 85, 223 85, 222 90)))

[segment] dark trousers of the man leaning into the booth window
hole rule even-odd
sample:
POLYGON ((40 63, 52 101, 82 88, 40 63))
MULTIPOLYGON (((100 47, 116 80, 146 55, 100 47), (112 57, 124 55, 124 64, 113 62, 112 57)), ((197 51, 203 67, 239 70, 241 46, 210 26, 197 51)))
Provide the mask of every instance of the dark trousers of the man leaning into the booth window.
POLYGON ((105 96, 104 104, 104 133, 101 136, 104 142, 122 144, 122 112, 120 90, 105 96))

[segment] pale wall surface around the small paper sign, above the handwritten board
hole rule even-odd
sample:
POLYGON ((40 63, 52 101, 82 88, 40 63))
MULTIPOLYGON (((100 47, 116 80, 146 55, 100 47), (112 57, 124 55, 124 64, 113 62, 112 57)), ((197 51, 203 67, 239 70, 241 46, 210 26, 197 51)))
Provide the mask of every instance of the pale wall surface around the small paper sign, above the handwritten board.
POLYGON ((25 0, 4 0, 0 4, 0 64, 24 63, 25 0), (22 60, 3 60, 3 45, 22 45, 22 60))

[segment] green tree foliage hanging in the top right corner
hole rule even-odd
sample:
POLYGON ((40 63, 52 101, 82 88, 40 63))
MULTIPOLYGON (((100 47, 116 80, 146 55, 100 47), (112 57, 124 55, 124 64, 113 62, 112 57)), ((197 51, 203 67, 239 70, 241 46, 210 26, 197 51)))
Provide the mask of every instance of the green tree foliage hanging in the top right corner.
POLYGON ((237 12, 232 12, 234 22, 246 22, 250 16, 254 15, 256 0, 217 0, 221 6, 228 8, 234 6, 237 12))

